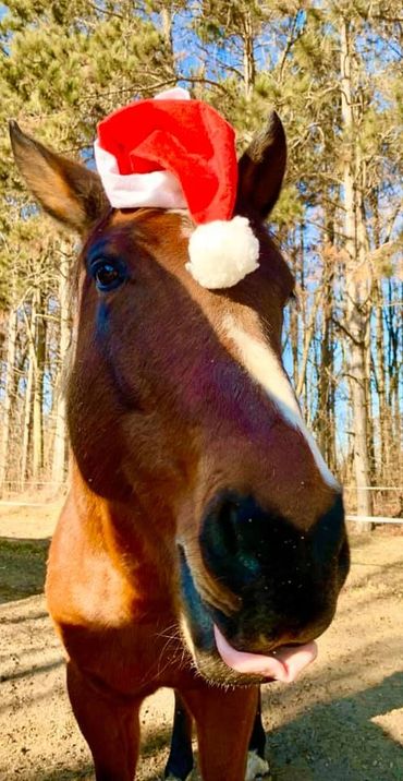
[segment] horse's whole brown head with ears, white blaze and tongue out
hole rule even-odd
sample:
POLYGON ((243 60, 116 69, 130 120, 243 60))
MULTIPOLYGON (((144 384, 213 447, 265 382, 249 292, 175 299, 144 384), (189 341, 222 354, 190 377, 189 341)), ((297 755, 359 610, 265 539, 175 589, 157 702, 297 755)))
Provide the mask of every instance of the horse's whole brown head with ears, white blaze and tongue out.
POLYGON ((259 267, 216 290, 186 269, 186 211, 111 208, 94 171, 15 124, 12 141, 34 195, 83 238, 75 490, 108 508, 117 566, 137 597, 172 605, 208 680, 293 677, 332 620, 349 548, 341 488, 282 365, 294 279, 265 227, 285 167, 280 120, 239 161, 235 214, 259 267))

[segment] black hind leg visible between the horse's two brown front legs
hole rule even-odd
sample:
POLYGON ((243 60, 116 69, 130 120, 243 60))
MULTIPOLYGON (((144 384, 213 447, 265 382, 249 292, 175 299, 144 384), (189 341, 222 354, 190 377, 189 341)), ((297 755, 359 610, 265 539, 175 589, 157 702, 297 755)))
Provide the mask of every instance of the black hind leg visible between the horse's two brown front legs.
POLYGON ((171 750, 163 777, 167 781, 185 781, 192 770, 192 716, 181 695, 175 690, 171 750))

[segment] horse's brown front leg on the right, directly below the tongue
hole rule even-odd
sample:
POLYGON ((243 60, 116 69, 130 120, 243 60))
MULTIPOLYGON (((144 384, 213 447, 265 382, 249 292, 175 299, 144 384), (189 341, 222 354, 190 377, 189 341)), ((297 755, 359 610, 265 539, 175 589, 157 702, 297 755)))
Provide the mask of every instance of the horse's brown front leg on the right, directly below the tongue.
POLYGON ((196 721, 204 781, 244 781, 258 688, 205 686, 181 693, 196 721))

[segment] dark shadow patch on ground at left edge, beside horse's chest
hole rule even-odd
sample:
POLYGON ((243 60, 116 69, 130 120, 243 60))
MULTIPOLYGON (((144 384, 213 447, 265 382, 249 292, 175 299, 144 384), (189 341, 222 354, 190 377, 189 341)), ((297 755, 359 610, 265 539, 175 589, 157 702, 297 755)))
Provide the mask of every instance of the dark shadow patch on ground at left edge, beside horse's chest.
POLYGON ((0 604, 44 590, 49 543, 0 537, 0 604))

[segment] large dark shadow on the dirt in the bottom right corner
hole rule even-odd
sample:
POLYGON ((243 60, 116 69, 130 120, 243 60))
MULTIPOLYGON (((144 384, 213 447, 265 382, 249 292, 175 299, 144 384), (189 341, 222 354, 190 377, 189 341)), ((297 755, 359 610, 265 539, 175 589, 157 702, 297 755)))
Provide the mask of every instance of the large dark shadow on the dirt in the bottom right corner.
POLYGON ((268 733, 273 781, 402 781, 403 746, 373 721, 403 707, 403 673, 268 733))

